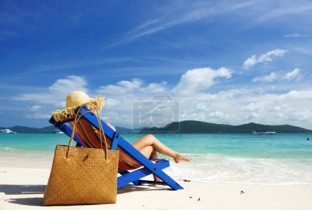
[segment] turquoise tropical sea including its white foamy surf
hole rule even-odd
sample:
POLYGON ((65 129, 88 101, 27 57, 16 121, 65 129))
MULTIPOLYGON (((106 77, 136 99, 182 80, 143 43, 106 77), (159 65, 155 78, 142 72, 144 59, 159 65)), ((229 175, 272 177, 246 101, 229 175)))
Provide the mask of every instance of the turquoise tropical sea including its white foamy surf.
MULTIPOLYGON (((144 134, 122 134, 130 143, 144 134)), ((166 173, 177 180, 236 184, 312 184, 312 134, 155 134, 193 157, 166 173), (311 139, 311 141, 307 139, 311 139)), ((0 166, 50 168, 64 134, 0 134, 0 166)), ((164 156, 160 156, 164 157, 164 156)))

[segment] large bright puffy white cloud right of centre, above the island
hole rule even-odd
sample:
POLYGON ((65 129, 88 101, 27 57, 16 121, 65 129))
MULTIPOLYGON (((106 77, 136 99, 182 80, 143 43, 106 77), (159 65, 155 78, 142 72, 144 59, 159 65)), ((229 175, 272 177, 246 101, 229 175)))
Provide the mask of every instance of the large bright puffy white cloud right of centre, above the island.
POLYGON ((217 78, 231 78, 232 71, 225 67, 191 69, 181 76, 180 82, 172 90, 174 95, 189 95, 205 91, 216 83, 217 78))

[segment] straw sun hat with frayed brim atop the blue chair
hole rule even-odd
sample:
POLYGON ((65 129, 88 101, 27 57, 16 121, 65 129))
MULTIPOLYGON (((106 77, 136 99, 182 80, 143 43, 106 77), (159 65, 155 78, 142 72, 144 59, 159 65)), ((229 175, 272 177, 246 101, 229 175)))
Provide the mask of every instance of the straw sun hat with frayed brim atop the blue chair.
POLYGON ((53 118, 55 121, 61 121, 64 117, 73 116, 75 110, 83 105, 88 107, 88 109, 95 107, 101 111, 104 106, 104 97, 90 98, 84 91, 72 91, 66 97, 66 108, 53 112, 53 118))

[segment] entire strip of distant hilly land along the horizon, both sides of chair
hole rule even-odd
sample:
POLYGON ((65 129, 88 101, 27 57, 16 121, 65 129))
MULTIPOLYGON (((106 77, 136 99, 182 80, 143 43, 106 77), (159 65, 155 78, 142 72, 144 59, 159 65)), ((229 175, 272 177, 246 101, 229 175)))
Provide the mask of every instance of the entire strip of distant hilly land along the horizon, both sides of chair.
MULTIPOLYGON (((6 129, 0 127, 0 130, 6 129)), ((17 133, 53 133, 53 125, 44 128, 29 128, 25 126, 13 126, 8 128, 17 133)), ((257 123, 248 123, 243 125, 225 125, 216 123, 206 123, 202 121, 181 121, 173 122, 162 128, 130 128, 116 127, 120 133, 217 133, 217 134, 234 134, 250 133, 252 130, 268 130, 277 133, 312 133, 312 130, 296 127, 293 125, 261 125, 257 123)))

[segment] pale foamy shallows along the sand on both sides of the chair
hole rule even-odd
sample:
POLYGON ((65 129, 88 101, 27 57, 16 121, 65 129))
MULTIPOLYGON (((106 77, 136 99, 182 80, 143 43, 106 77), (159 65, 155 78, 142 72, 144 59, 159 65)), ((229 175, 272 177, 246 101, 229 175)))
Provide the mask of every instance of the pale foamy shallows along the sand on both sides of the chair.
MULTIPOLYGON (((51 170, 53 153, 0 154, 0 168, 44 168, 51 170)), ((256 184, 268 186, 312 185, 312 159, 272 159, 250 157, 196 157, 193 162, 165 168, 175 180, 216 184, 256 184)))

